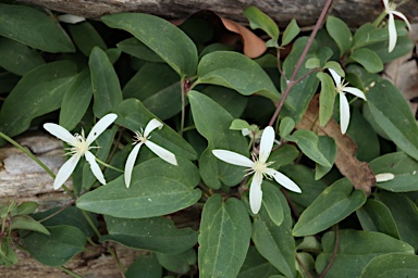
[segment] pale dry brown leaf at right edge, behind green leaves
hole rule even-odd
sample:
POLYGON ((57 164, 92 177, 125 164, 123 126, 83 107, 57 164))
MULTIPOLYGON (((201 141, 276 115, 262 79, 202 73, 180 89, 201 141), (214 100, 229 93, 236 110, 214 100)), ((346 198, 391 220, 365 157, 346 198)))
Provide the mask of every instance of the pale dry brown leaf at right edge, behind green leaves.
MULTIPOLYGON (((413 24, 409 36, 418 46, 418 24, 413 24)), ((383 78, 396 86, 408 101, 414 115, 418 115, 418 103, 414 101, 418 98, 418 65, 413 59, 413 52, 386 64, 383 78)))

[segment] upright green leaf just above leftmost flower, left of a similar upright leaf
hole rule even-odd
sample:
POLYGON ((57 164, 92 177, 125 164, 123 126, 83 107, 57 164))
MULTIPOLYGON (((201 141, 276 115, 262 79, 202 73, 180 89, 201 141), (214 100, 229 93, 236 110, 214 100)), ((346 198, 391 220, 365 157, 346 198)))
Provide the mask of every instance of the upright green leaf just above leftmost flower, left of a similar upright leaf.
POLYGON ((60 110, 60 126, 67 130, 74 129, 86 114, 91 97, 90 72, 84 70, 72 80, 64 93, 60 110))

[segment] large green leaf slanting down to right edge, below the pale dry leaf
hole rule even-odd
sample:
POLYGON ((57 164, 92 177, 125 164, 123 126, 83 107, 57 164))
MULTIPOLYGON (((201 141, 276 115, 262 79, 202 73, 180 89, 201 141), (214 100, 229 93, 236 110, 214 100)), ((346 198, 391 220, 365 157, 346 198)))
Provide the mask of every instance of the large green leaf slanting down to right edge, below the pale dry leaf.
POLYGON ((376 80, 367 92, 373 119, 401 150, 418 160, 418 126, 408 103, 392 83, 376 80))

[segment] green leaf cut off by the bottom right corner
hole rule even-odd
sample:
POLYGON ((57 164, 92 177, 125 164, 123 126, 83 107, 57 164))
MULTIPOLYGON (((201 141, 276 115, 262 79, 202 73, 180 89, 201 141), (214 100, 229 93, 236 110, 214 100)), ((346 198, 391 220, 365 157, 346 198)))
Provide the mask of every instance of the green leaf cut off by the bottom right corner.
POLYGON ((417 277, 418 256, 383 254, 374 257, 362 269, 360 278, 417 277))

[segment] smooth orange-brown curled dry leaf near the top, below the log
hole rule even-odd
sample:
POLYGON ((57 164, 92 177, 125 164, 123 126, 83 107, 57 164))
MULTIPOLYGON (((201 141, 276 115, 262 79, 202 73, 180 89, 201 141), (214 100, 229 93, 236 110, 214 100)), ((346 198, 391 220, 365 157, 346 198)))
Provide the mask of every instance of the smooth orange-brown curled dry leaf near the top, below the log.
POLYGON ((254 59, 266 52, 266 42, 243 25, 231 20, 220 17, 226 29, 238 34, 243 39, 244 54, 254 59))

